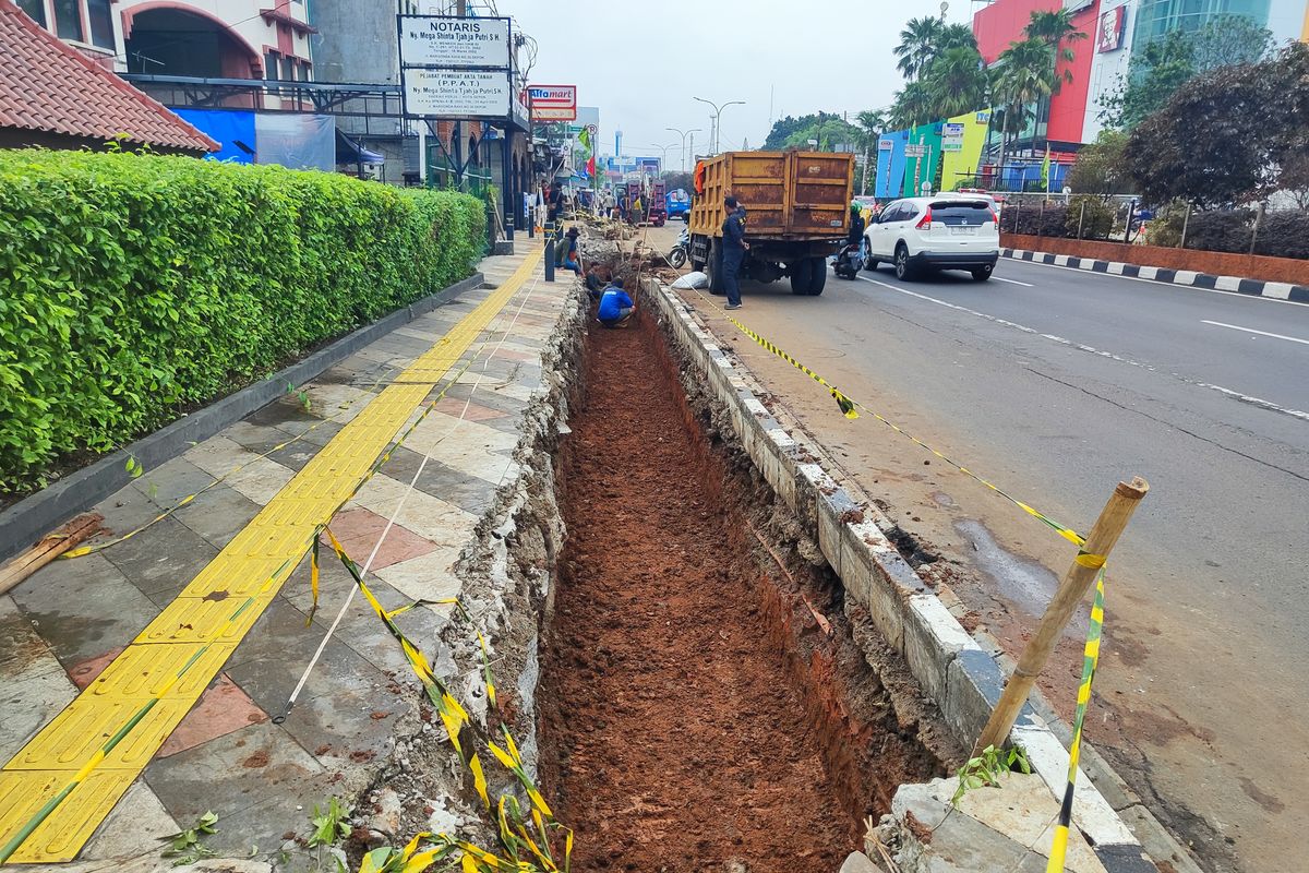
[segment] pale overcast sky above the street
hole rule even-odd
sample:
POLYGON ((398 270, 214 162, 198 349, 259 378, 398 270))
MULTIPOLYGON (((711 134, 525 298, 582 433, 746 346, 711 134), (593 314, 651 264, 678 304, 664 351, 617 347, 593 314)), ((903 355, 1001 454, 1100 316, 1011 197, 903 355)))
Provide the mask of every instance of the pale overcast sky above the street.
MULTIPOLYGON (((948 21, 967 22, 979 4, 949 0, 948 21)), ((940 0, 499 0, 500 14, 535 38, 531 81, 577 85, 577 102, 600 107, 601 154, 623 131, 627 154, 681 144, 666 127, 699 127, 711 110, 692 97, 745 106, 723 111, 721 144, 758 148, 771 122, 818 110, 884 107, 901 85, 891 48, 915 16, 940 0), (770 116, 770 89, 772 113, 770 116)), ((677 165, 677 145, 666 166, 677 165)))

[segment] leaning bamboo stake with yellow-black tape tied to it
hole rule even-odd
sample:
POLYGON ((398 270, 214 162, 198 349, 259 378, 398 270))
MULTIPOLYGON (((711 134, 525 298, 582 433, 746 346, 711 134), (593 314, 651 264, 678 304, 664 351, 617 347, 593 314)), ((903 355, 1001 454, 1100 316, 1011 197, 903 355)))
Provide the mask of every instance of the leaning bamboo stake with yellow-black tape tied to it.
MULTIPOLYGON (((1123 529, 1127 527, 1132 513, 1136 512, 1136 507, 1140 505, 1141 497, 1148 491, 1149 483, 1140 476, 1132 479, 1131 484, 1119 482, 1114 493, 1110 495, 1109 503, 1100 512, 1100 518, 1090 529, 1086 544, 1081 547, 1079 556, 1098 555, 1107 559, 1123 529)), ((1013 675, 1005 683, 1000 702, 978 739, 978 749, 987 746, 999 749, 1009 736, 1009 729, 1013 728, 1018 712, 1022 711, 1022 704, 1028 702, 1031 686, 1035 685, 1037 677, 1045 669, 1046 661, 1050 660, 1050 653, 1054 652, 1059 635, 1068 626, 1068 620, 1077 610, 1077 603, 1086 596, 1086 590, 1098 575, 1100 567, 1093 565, 1093 561, 1073 560, 1063 579, 1059 580, 1059 590, 1055 592, 1054 599, 1046 607, 1046 614, 1041 616, 1037 633, 1022 650, 1022 657, 1018 658, 1018 666, 1014 668, 1013 675)))

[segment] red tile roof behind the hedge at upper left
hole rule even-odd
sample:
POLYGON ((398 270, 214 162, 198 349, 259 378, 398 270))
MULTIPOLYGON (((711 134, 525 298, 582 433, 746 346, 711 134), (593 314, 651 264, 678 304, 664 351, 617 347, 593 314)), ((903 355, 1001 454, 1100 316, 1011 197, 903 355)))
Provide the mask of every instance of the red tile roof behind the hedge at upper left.
POLYGON ((0 0, 0 127, 190 152, 219 144, 0 0))

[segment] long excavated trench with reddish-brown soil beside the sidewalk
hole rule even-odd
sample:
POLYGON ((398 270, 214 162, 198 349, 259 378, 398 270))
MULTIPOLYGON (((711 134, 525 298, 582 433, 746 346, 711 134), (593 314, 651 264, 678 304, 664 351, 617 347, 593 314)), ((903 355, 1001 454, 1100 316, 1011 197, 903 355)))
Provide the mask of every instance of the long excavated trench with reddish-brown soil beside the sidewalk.
POLYGON ((948 743, 652 315, 583 347, 537 694, 573 869, 834 873, 948 743))

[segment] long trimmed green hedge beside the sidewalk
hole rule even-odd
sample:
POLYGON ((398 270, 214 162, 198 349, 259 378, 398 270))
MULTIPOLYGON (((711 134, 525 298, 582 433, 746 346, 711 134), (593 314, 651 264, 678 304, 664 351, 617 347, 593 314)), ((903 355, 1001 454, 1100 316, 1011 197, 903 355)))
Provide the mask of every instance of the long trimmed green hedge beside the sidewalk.
POLYGON ((0 152, 0 492, 469 276, 484 228, 454 192, 0 152))

